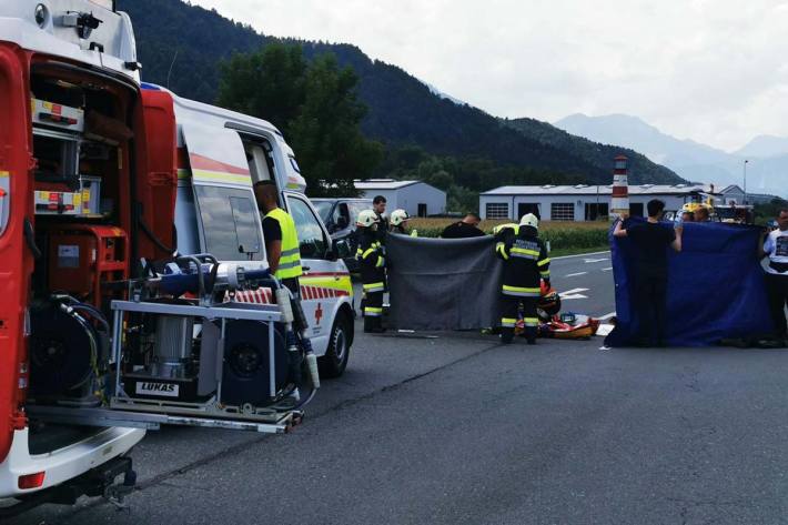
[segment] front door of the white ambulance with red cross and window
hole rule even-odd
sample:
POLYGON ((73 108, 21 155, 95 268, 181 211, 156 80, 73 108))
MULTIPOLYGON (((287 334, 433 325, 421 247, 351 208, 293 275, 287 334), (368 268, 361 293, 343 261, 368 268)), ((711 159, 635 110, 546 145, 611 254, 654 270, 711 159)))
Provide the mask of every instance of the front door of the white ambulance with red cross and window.
POLYGON ((342 297, 351 295, 351 281, 342 261, 330 258, 331 238, 312 204, 301 193, 284 192, 301 244, 301 300, 310 323, 310 337, 319 355, 325 353, 332 323, 342 297))

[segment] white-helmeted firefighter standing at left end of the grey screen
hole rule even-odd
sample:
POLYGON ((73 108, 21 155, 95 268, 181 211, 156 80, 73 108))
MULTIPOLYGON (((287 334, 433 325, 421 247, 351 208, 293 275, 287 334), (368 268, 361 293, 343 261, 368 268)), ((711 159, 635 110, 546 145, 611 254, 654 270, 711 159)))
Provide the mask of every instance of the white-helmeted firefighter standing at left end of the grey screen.
POLYGON ((380 222, 375 212, 364 210, 358 213, 356 228, 358 250, 356 260, 361 266, 361 282, 364 290, 364 332, 382 333, 383 292, 386 289, 386 259, 377 234, 380 222))

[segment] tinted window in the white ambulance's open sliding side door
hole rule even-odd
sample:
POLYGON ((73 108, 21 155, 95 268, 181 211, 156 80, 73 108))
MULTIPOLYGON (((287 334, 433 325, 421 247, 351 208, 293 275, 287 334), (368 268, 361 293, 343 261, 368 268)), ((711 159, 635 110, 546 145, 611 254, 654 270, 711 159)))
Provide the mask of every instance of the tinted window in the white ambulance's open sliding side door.
POLYGON ((252 192, 195 185, 205 251, 220 261, 263 260, 252 192))

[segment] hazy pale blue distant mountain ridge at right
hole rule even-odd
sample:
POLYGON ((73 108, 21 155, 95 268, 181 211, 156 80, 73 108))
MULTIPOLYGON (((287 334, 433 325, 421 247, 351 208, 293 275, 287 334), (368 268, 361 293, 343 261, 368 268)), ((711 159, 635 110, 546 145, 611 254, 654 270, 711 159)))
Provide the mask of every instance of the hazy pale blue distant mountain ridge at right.
POLYGON ((587 117, 573 114, 555 122, 556 128, 593 141, 615 142, 633 148, 684 179, 717 185, 744 185, 747 190, 788 196, 788 139, 758 137, 742 149, 728 153, 691 140, 663 133, 643 120, 624 114, 587 117))

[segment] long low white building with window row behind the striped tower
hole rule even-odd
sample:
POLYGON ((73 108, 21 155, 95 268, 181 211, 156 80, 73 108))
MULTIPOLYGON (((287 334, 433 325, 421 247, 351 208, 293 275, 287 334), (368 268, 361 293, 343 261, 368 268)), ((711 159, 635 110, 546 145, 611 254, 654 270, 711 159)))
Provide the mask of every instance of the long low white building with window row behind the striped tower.
MULTIPOLYGON (((737 186, 728 186, 725 202, 737 201, 737 186)), ((517 220, 526 213, 534 213, 545 221, 594 221, 607 216, 610 210, 613 185, 531 185, 501 186, 479 195, 482 219, 517 220)), ((720 192, 723 193, 723 192, 720 192)), ((700 201, 715 193, 708 184, 641 184, 629 185, 629 212, 643 216, 646 203, 651 199, 665 201, 666 211, 677 211, 686 202, 700 201)))

